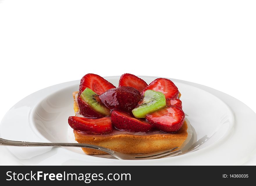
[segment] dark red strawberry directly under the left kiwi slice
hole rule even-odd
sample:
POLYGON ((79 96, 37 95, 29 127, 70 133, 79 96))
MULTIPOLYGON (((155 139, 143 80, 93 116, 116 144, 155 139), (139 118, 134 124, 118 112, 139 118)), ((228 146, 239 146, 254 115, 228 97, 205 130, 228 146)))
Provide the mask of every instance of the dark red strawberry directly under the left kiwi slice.
POLYGON ((80 114, 83 115, 84 117, 93 118, 93 119, 105 117, 95 112, 92 108, 90 108, 90 106, 85 101, 83 101, 80 96, 77 97, 77 103, 79 106, 80 114))

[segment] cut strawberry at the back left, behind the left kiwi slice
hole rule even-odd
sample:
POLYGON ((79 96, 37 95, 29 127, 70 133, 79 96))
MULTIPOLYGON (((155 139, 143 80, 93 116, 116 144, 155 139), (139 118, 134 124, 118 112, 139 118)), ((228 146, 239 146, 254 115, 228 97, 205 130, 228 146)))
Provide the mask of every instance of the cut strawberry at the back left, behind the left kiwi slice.
POLYGON ((86 74, 83 76, 79 86, 79 95, 88 87, 93 90, 96 94, 102 94, 106 90, 115 88, 112 83, 109 83, 107 80, 96 74, 86 74))

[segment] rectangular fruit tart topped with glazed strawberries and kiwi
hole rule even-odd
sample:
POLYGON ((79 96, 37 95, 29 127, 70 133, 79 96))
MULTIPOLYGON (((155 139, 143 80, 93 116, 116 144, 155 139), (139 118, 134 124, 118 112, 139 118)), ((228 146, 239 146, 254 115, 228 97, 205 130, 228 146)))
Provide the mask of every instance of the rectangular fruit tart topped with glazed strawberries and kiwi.
MULTIPOLYGON (((68 118, 78 143, 138 154, 180 147, 187 138, 181 94, 166 78, 149 85, 123 74, 119 86, 96 74, 81 79, 73 92, 75 116, 68 118)), ((106 154, 82 148, 86 154, 106 154)))

